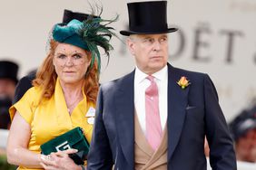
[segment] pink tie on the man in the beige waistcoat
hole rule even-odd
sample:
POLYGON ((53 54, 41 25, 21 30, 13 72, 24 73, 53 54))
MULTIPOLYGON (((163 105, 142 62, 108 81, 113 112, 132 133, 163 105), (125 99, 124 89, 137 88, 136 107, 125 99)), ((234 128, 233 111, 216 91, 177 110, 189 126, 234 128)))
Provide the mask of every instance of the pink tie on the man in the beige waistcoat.
POLYGON ((146 79, 151 81, 151 85, 146 89, 145 92, 146 137, 149 144, 154 150, 156 150, 160 145, 162 138, 162 127, 158 106, 158 88, 153 80, 153 76, 148 76, 146 79))

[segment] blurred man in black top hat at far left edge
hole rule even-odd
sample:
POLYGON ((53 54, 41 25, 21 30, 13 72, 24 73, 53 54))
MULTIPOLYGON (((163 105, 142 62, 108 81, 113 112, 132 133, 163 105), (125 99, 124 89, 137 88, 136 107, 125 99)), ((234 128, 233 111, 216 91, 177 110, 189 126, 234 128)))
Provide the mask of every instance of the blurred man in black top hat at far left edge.
POLYGON ((18 65, 13 61, 0 61, 0 128, 9 128, 9 107, 15 96, 18 65))

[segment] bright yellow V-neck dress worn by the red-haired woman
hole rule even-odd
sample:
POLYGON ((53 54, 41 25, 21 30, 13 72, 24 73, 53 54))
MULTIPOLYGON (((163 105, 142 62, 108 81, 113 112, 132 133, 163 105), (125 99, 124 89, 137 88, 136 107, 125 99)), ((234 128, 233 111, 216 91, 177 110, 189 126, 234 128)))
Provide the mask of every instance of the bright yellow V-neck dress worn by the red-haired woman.
MULTIPOLYGON (((31 88, 26 91, 22 99, 9 109, 12 119, 17 110, 31 127, 31 137, 28 144, 29 150, 40 153, 40 146, 44 142, 58 137, 74 127, 82 127, 84 129, 84 136, 89 143, 91 142, 94 126, 94 103, 87 102, 84 95, 84 99, 79 102, 72 114, 69 115, 64 100, 64 93, 58 79, 56 80, 54 95, 51 99, 43 99, 41 104, 37 106, 40 94, 41 90, 31 88)), ((24 166, 19 166, 18 169, 33 170, 24 166)))

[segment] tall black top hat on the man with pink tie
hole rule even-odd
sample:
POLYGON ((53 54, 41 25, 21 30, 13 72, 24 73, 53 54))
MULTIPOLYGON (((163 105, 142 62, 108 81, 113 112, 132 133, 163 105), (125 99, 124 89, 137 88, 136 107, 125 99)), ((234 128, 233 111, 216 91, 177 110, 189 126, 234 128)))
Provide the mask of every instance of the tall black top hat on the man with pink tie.
POLYGON ((168 28, 167 24, 167 1, 149 1, 129 3, 129 31, 120 33, 130 34, 155 34, 172 33, 177 28, 168 28))

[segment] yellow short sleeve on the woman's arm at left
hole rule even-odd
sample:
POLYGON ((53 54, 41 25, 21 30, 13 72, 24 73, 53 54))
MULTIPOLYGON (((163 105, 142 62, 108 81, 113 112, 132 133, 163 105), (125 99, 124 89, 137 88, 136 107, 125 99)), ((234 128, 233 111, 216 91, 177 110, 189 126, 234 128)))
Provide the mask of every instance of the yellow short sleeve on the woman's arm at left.
POLYGON ((28 124, 31 124, 34 116, 34 109, 36 101, 39 99, 40 92, 35 88, 31 88, 25 92, 25 95, 17 101, 10 109, 9 114, 11 119, 15 117, 15 112, 18 111, 20 115, 25 118, 28 124))

